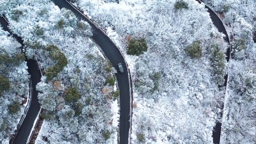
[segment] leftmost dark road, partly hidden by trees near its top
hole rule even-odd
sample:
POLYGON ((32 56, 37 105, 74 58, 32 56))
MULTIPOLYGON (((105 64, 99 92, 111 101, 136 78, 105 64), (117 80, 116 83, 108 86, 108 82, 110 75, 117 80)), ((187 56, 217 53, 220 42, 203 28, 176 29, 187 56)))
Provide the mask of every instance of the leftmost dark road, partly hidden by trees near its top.
MULTIPOLYGON (((2 25, 5 31, 8 31, 12 37, 14 37, 21 45, 22 48, 24 47, 24 43, 22 38, 18 35, 13 34, 10 29, 8 28, 8 22, 3 18, 0 17, 0 24, 2 25)), ((41 80, 41 72, 38 68, 38 64, 34 59, 27 59, 27 66, 28 66, 28 73, 30 74, 31 82, 32 82, 32 98, 31 104, 28 108, 28 112, 26 117, 24 118, 20 128, 16 132, 16 136, 13 139, 11 144, 26 144, 28 137, 30 135, 30 131, 32 130, 34 121, 36 120, 36 116, 40 110, 40 105, 38 102, 38 91, 36 90, 36 84, 41 80)))

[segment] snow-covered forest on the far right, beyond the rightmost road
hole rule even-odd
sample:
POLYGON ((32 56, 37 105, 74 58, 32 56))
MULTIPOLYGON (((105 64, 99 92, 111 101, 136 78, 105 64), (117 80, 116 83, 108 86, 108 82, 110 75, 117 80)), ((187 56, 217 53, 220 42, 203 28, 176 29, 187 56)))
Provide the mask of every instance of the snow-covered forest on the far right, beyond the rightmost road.
POLYGON ((256 142, 256 2, 204 0, 226 24, 231 38, 228 97, 224 108, 223 144, 256 142))

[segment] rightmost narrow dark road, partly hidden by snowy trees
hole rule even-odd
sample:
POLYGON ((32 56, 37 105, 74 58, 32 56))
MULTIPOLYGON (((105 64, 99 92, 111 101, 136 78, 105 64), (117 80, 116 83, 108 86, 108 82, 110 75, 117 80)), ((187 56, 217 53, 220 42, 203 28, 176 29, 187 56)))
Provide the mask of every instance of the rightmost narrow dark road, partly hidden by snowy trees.
MULTIPOLYGON (((200 0, 196 0, 196 1, 199 2, 200 4, 203 3, 200 0)), ((224 40, 228 44, 230 44, 230 39, 228 37, 227 30, 226 30, 222 20, 220 19, 220 17, 211 8, 209 8, 208 6, 205 5, 205 8, 208 9, 208 12, 210 14, 210 18, 212 19, 212 23, 214 24, 214 26, 216 26, 216 28, 218 29, 219 32, 222 32, 223 34, 226 35, 224 40)), ((228 48, 227 52, 226 52, 226 60, 227 60, 227 62, 229 61, 229 59, 230 59, 230 48, 228 48)), ((228 82, 228 74, 226 74, 224 79, 225 79, 225 82, 224 82, 223 86, 226 87, 227 86, 227 82, 228 82)), ((221 110, 223 110, 223 108, 224 107, 222 106, 221 110)), ((221 114, 221 117, 222 117, 223 112, 221 112, 220 114, 221 114)), ((212 131, 212 137, 213 137, 213 143, 214 144, 220 144, 221 126, 222 126, 222 123, 221 122, 217 122, 215 127, 214 127, 214 130, 212 131)))

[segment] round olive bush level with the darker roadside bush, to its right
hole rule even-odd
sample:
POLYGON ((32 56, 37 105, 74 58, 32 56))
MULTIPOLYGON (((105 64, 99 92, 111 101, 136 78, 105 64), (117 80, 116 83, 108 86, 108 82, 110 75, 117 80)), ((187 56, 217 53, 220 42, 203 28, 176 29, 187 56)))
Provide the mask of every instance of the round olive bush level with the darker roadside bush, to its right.
POLYGON ((188 52, 191 58, 201 58, 202 46, 200 40, 196 40, 192 44, 190 44, 186 51, 188 52))

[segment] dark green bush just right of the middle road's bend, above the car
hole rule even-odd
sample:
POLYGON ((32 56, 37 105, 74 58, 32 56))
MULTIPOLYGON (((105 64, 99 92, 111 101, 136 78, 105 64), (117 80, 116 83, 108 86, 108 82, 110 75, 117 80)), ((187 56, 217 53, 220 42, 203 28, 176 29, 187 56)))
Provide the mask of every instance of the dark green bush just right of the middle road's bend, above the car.
POLYGON ((148 50, 145 38, 129 40, 127 54, 139 56, 148 50))

